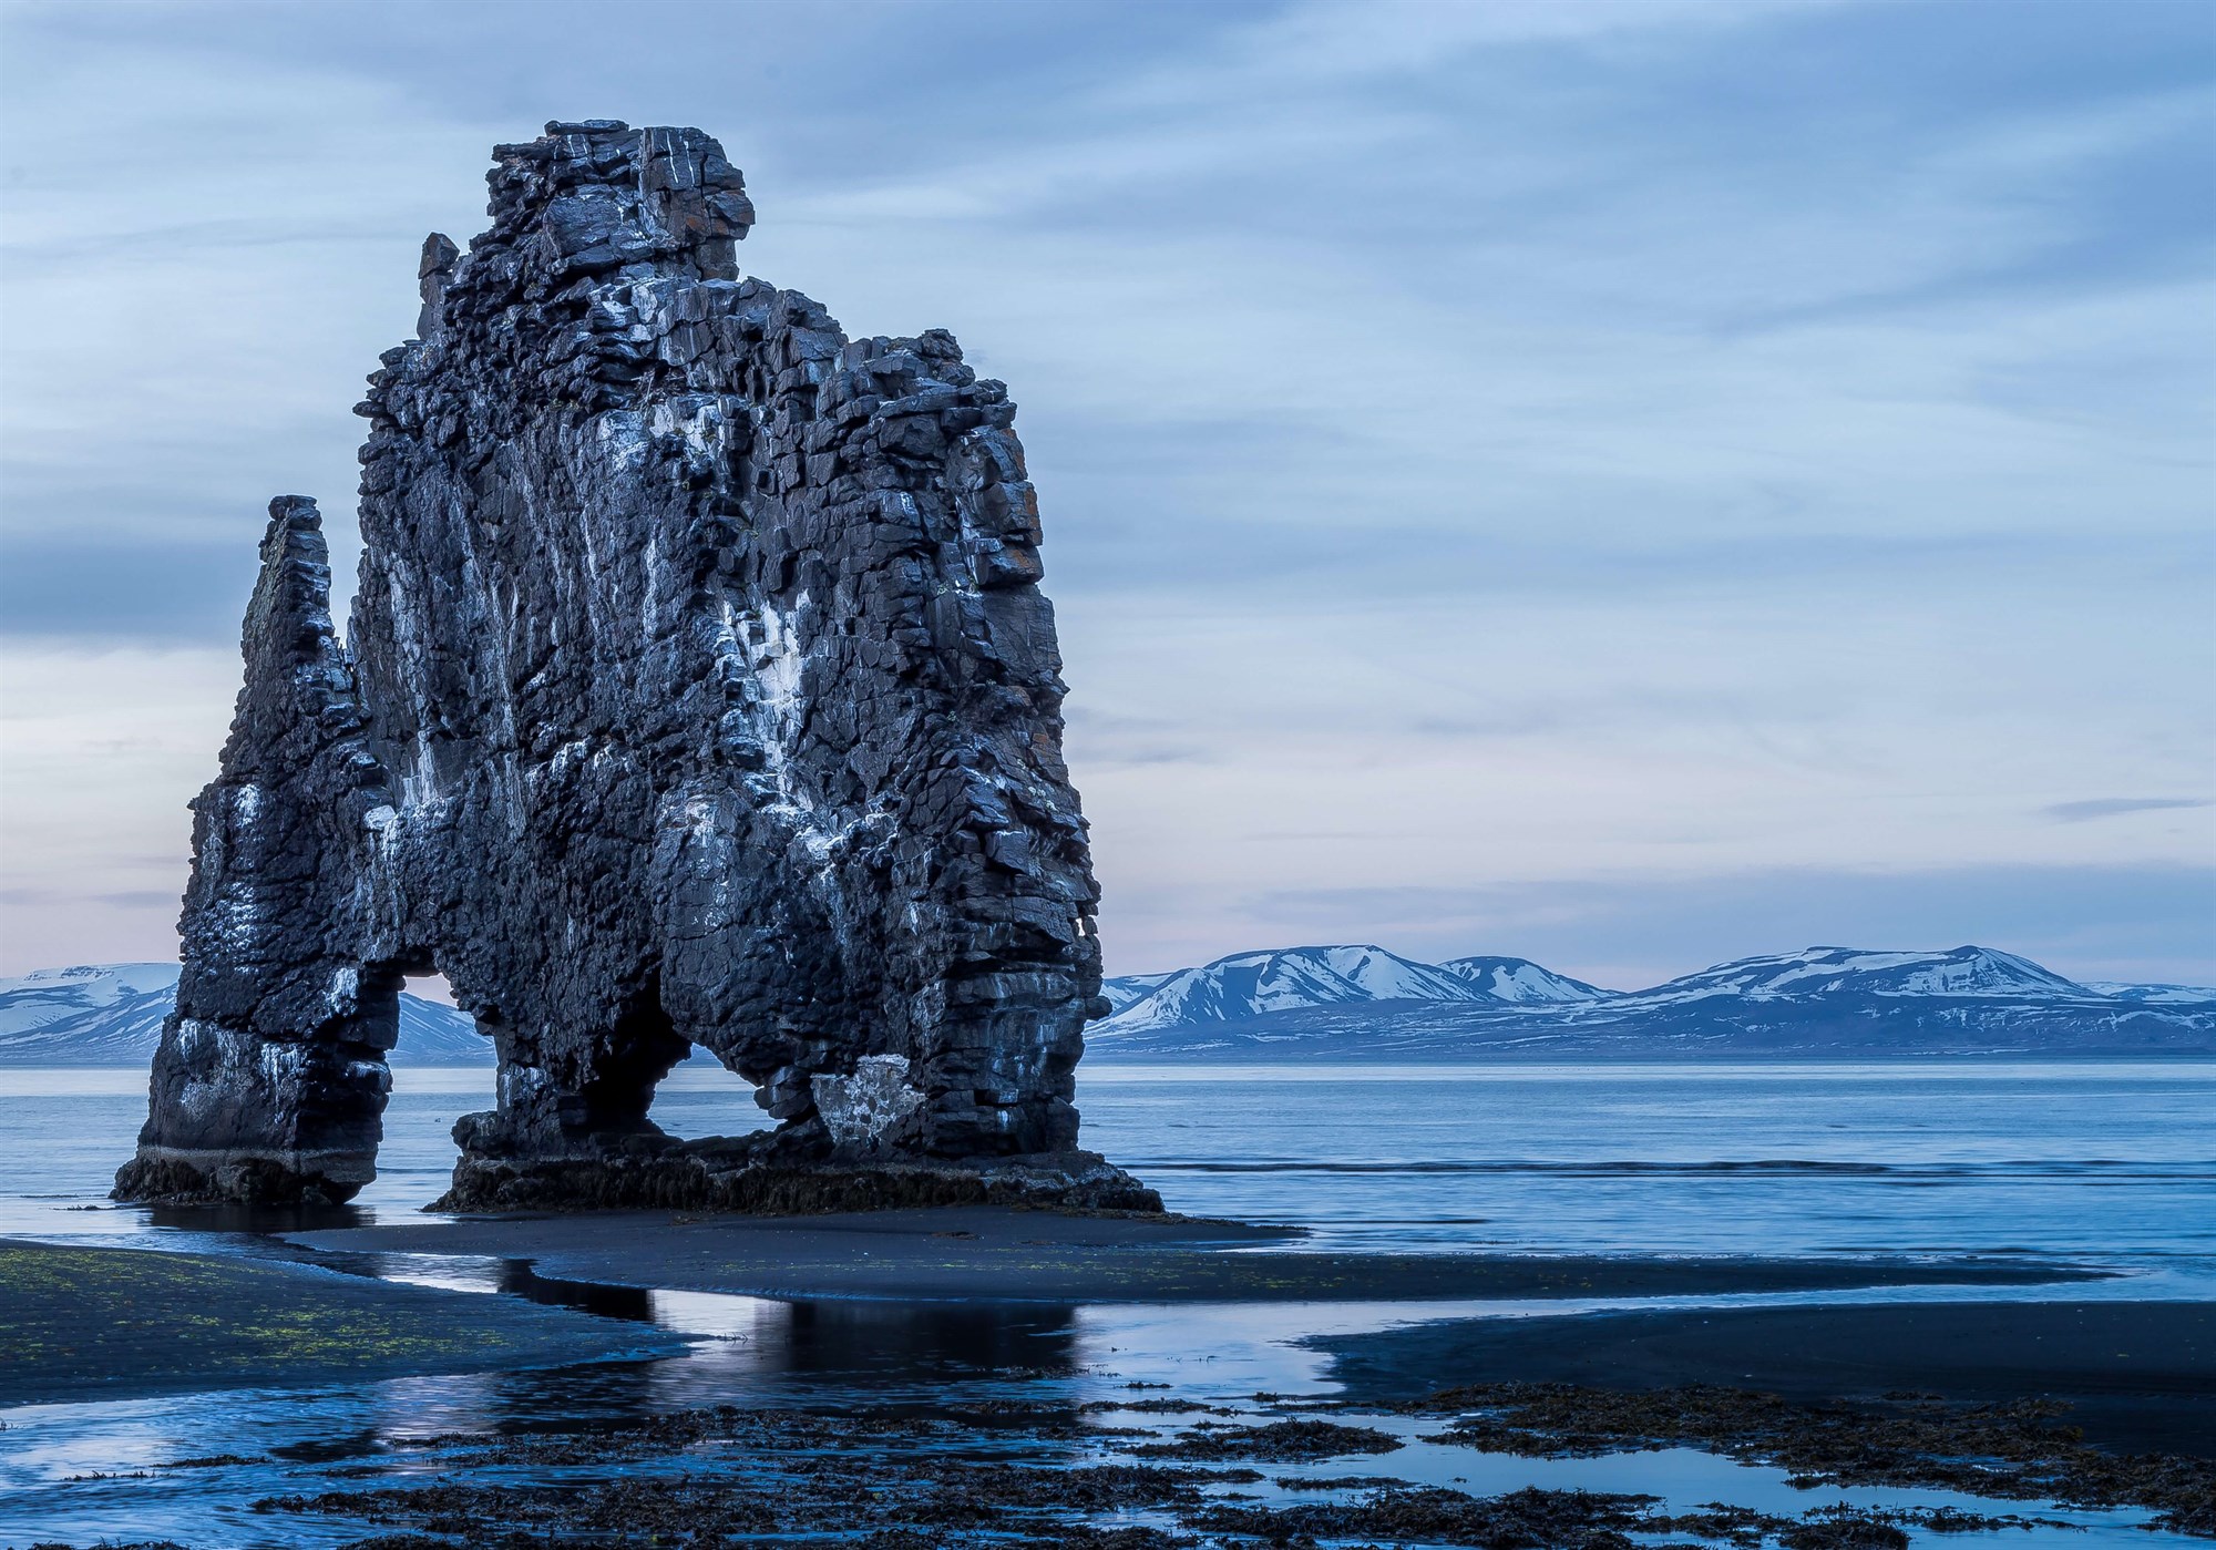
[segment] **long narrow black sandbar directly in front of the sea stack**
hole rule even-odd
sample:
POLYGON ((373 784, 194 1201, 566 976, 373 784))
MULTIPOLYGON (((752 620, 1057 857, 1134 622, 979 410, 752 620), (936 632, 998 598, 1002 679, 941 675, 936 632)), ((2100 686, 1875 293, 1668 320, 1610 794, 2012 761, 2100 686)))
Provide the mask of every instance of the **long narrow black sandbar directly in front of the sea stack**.
POLYGON ((756 1298, 906 1302, 1396 1302, 1644 1298, 1908 1284, 2096 1280, 2025 1260, 1635 1260, 1345 1253, 1270 1247, 1241 1222, 1059 1216, 1002 1207, 847 1216, 499 1216, 286 1233, 326 1251, 530 1260, 538 1275, 756 1298))

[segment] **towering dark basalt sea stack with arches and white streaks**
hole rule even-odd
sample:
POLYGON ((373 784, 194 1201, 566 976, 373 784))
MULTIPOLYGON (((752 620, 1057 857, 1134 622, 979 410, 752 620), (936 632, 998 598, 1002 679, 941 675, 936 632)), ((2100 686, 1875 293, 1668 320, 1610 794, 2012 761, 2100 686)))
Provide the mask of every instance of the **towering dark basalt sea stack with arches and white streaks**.
POLYGON ((1159 1209, 1075 1149, 1099 895, 1006 390, 738 279, 700 131, 494 157, 359 405, 343 644, 270 507, 115 1194, 352 1196, 437 970, 501 1056, 448 1207, 1159 1209), (782 1125, 656 1129, 691 1045, 782 1125))

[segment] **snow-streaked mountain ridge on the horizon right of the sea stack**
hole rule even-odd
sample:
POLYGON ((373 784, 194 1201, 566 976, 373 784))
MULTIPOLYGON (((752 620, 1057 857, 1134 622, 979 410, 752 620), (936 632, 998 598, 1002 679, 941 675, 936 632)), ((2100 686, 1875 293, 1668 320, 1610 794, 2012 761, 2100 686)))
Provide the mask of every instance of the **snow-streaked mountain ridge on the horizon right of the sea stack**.
POLYGON ((1979 946, 1806 948, 1631 992, 1529 959, 1434 965, 1374 946, 1279 948, 1119 981, 1110 1003, 1086 1034, 1106 1061, 2216 1054, 2216 990, 2081 985, 1979 946))

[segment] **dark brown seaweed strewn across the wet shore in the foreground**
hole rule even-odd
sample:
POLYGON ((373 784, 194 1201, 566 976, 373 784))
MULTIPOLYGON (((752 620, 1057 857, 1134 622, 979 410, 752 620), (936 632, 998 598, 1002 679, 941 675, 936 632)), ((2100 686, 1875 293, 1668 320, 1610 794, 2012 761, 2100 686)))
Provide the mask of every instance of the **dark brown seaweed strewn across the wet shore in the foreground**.
MULTIPOLYGON (((1155 1410, 1155 1402, 1139 1402, 1155 1410)), ((383 1444, 403 1477, 339 1488, 363 1466, 257 1501, 273 1515, 359 1523, 350 1550, 1199 1550, 1434 1543, 1476 1550, 1908 1550, 1910 1532, 2056 1528, 1959 1508, 1817 1506, 1797 1517, 1731 1504, 1671 1515, 1655 1497, 1525 1488, 1476 1497, 1392 1475, 1265 1477, 1254 1464, 1398 1450, 1345 1419, 1239 1413, 1135 1442, 1086 1428, 1090 1406, 984 1399, 793 1410, 711 1406, 523 1435, 450 1433, 383 1444), (417 1472, 434 1466, 439 1475, 417 1472), (563 1470, 519 1477, 516 1470, 563 1470), (567 1475, 567 1470, 576 1470, 567 1475)), ((1166 1406, 1163 1406, 1166 1408, 1166 1406)), ((1192 1406, 1197 1410, 1221 1406, 1192 1406)), ((2209 1534, 2209 1466, 2085 1448, 2056 1406, 1946 1406, 1923 1397, 1795 1406, 1686 1388, 1613 1393, 1502 1384, 1403 1410, 1445 1417, 1438 1442, 1520 1455, 1700 1446, 1784 1466, 1799 1484, 1943 1486, 1986 1497, 2152 1506, 2209 1534)), ((319 1457, 324 1457, 319 1453, 319 1457)), ((359 1448, 330 1453, 359 1457, 359 1448)), ((304 1459, 312 1461, 312 1459, 304 1459)), ((179 1464, 199 1464, 179 1461, 179 1464)))

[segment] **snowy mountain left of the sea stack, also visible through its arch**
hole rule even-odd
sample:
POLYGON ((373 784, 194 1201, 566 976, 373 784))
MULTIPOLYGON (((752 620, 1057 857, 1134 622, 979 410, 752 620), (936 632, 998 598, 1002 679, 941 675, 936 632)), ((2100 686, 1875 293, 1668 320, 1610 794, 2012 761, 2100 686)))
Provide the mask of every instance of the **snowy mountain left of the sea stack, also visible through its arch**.
MULTIPOLYGON (((0 1065, 146 1065, 175 1001, 175 963, 80 963, 0 979, 0 1065)), ((490 1065, 492 1043, 465 1012, 401 992, 392 1056, 490 1065)))

